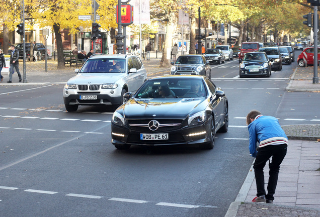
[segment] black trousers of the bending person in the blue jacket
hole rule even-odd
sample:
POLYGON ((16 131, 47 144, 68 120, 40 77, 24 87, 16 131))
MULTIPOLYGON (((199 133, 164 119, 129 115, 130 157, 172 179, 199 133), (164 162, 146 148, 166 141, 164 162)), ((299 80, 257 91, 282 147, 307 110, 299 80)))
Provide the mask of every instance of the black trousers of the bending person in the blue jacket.
POLYGON ((254 163, 256 184, 257 184, 257 196, 266 196, 266 199, 274 200, 274 193, 276 191, 278 175, 280 170, 280 164, 287 154, 287 144, 281 145, 268 145, 258 149, 257 157, 254 163), (269 181, 268 181, 268 194, 265 190, 265 176, 263 168, 266 162, 272 157, 271 163, 269 163, 269 181))

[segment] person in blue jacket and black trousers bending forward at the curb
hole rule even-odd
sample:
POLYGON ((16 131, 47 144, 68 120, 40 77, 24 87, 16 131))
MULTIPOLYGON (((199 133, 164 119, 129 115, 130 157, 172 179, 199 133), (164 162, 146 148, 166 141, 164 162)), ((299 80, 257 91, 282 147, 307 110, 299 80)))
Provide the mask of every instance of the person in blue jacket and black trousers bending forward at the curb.
POLYGON ((251 111, 247 115, 246 121, 249 130, 250 155, 256 158, 253 168, 257 184, 257 197, 253 199, 253 202, 273 203, 280 164, 287 154, 288 138, 276 118, 262 116, 257 110, 251 111), (258 149, 257 142, 259 142, 258 149), (268 193, 266 194, 263 169, 268 160, 270 170, 268 193))

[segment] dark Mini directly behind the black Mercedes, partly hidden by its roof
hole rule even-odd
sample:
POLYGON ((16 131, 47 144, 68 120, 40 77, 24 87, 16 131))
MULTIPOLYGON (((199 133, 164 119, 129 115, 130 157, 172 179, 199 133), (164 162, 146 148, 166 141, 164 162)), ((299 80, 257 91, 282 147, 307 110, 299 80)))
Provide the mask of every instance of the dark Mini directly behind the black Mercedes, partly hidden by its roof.
POLYGON ((171 62, 172 75, 204 75, 211 78, 209 61, 203 55, 181 55, 176 62, 171 62))

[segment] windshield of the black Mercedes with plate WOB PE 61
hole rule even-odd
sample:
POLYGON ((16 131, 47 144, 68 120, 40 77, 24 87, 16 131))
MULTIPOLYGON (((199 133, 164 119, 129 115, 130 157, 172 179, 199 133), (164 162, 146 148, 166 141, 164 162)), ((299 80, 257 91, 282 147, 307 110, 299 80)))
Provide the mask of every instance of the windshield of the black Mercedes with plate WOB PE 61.
POLYGON ((136 93, 136 98, 189 98, 207 96, 202 79, 168 78, 150 79, 136 93))

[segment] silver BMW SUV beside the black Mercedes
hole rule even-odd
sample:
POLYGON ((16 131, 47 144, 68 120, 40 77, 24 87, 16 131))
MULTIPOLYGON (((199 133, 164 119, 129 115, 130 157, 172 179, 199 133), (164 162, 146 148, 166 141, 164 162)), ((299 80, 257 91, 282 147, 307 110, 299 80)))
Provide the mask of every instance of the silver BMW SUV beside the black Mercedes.
POLYGON ((117 107, 125 92, 135 92, 147 79, 141 59, 131 54, 92 56, 75 73, 63 88, 68 112, 75 112, 78 105, 117 107))

